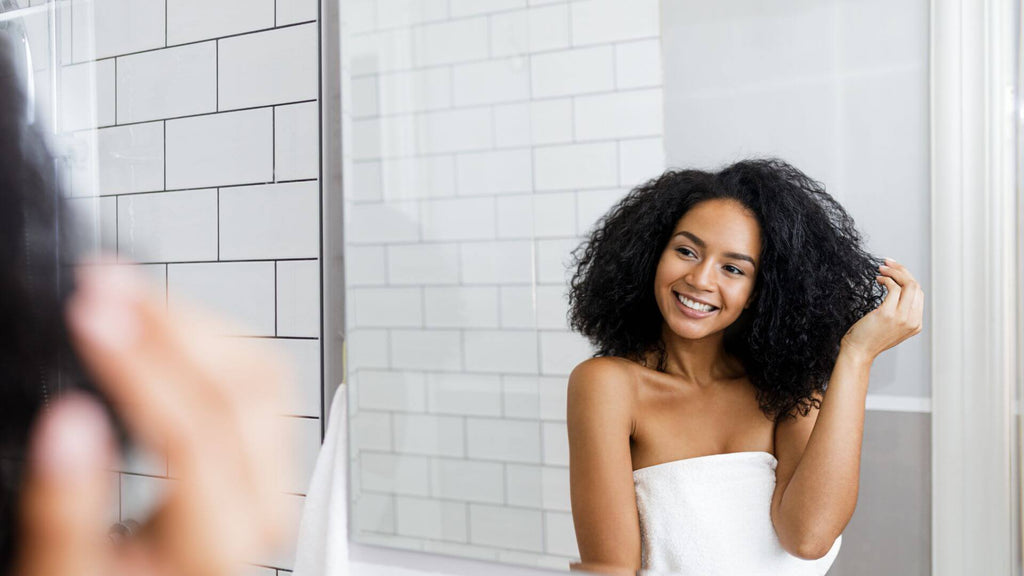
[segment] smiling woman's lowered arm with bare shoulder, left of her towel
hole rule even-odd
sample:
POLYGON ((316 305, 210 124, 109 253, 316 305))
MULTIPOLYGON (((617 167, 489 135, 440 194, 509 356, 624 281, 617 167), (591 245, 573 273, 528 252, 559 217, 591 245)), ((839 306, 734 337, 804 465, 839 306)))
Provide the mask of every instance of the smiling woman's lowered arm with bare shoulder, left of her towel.
POLYGON ((582 561, 572 568, 605 574, 640 569, 631 377, 621 361, 609 358, 588 360, 569 376, 569 485, 582 561))

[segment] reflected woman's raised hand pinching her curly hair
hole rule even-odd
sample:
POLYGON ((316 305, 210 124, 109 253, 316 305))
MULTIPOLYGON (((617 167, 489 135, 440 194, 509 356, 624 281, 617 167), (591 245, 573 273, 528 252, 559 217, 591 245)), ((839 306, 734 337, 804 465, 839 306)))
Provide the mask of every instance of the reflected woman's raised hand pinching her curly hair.
POLYGON ((868 362, 920 334, 925 313, 925 292, 903 264, 887 258, 876 281, 888 290, 885 300, 850 328, 842 344, 843 353, 868 362))

